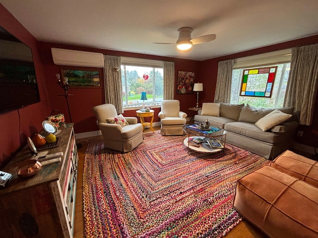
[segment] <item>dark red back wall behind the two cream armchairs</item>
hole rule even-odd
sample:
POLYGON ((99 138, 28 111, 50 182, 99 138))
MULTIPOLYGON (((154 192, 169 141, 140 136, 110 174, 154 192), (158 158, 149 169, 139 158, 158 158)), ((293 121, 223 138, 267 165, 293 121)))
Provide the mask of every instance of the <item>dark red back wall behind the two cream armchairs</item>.
MULTIPOLYGON (((167 57, 159 57, 159 56, 151 56, 144 54, 136 54, 136 53, 128 53, 128 52, 120 52, 120 51, 110 51, 103 49, 95 49, 95 48, 87 48, 87 47, 78 47, 78 46, 70 46, 70 45, 61 45, 61 44, 53 44, 47 42, 39 43, 40 52, 41 52, 41 60, 43 62, 45 78, 47 81, 47 85, 49 88, 49 97, 51 101, 51 109, 59 109, 66 116, 67 122, 69 122, 69 115, 66 100, 62 96, 57 96, 59 94, 63 94, 64 90, 57 84, 57 79, 55 74, 61 73, 62 68, 74 68, 70 66, 63 65, 55 65, 52 59, 51 48, 63 48, 70 50, 78 50, 78 51, 89 51, 89 52, 98 52, 104 55, 113 55, 113 56, 123 56, 123 57, 134 57, 134 58, 142 58, 142 59, 150 59, 150 60, 165 60, 165 61, 173 61, 174 69, 175 69, 175 79, 177 78, 178 71, 191 71, 198 74, 199 61, 195 60, 182 60, 176 58, 167 58, 167 57)), ((78 69, 83 69, 83 67, 75 67, 78 69)), ((86 68, 86 69, 98 69, 98 68, 86 68)), ((101 79, 103 78, 103 69, 101 70, 101 79)), ((199 77, 196 77, 196 80, 199 80, 199 77)), ((101 80, 102 81, 102 80, 101 80)), ((175 89, 176 89, 177 80, 174 80, 175 89)), ((174 91, 176 92, 176 90, 174 91)), ((69 105, 72 120, 75 123, 74 128, 76 133, 80 132, 88 132, 98 130, 98 126, 96 125, 96 118, 92 113, 91 109, 102 103, 104 101, 104 85, 102 84, 101 88, 70 88, 68 91, 69 94, 73 94, 73 96, 69 96, 69 105)), ((174 95, 174 98, 180 100, 181 111, 188 113, 189 107, 194 107, 196 105, 196 95, 174 95)), ((155 109, 155 118, 154 121, 160 121, 158 117, 160 109, 155 109)), ((125 117, 136 117, 136 110, 125 111, 123 114, 125 117)))

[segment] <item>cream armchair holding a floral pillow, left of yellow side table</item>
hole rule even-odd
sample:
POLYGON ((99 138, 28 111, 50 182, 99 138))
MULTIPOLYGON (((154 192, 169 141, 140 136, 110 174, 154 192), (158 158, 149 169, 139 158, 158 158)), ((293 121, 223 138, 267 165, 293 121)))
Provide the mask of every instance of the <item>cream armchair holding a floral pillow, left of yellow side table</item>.
POLYGON ((117 111, 112 104, 103 104, 93 108, 93 113, 98 120, 98 126, 104 137, 104 148, 122 152, 132 151, 143 142, 143 126, 137 123, 137 118, 125 117, 128 125, 121 126, 108 123, 107 119, 117 117, 117 111))

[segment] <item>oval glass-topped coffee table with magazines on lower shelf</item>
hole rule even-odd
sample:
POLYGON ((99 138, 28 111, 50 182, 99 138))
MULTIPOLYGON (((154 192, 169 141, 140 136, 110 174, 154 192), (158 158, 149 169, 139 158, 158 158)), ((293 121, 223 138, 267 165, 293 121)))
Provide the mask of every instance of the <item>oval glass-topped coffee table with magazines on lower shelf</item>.
POLYGON ((216 138, 223 146, 226 143, 227 131, 219 126, 210 126, 211 130, 198 130, 193 128, 195 124, 187 124, 183 126, 183 130, 186 132, 188 137, 183 140, 183 144, 188 147, 188 152, 191 150, 203 152, 203 153, 216 153, 222 151, 224 148, 214 148, 208 145, 208 143, 202 143, 201 147, 192 146, 189 144, 189 139, 193 137, 204 138, 216 138))

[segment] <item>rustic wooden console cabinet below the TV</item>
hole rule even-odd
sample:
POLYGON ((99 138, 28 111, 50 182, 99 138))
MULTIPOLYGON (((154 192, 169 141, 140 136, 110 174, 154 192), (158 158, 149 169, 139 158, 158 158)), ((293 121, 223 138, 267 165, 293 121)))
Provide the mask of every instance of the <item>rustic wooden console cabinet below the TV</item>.
POLYGON ((73 123, 59 129, 58 147, 36 156, 25 146, 2 169, 13 178, 0 189, 0 238, 73 238, 78 154, 73 123), (63 152, 61 162, 33 177, 17 177, 22 161, 57 152, 63 152))

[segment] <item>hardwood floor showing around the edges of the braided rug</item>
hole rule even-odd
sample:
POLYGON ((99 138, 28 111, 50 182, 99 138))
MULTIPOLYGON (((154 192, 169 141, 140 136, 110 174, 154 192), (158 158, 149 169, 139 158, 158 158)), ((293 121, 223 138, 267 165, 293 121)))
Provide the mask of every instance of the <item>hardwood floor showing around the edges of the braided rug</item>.
MULTIPOLYGON (((159 130, 160 127, 154 127, 154 130, 159 130)), ((150 132, 149 128, 145 129, 145 132, 150 132)), ((82 196, 82 181, 83 181, 83 166, 84 156, 87 149, 87 145, 92 141, 102 140, 102 136, 95 136, 89 138, 78 139, 76 142, 82 145, 78 149, 79 154, 79 165, 78 165, 78 181, 76 191, 76 205, 75 205, 75 222, 74 222, 74 238, 84 237, 84 221, 83 221, 83 196, 82 196)), ((260 230, 243 220, 239 223, 227 236, 226 238, 267 238, 260 230)))

